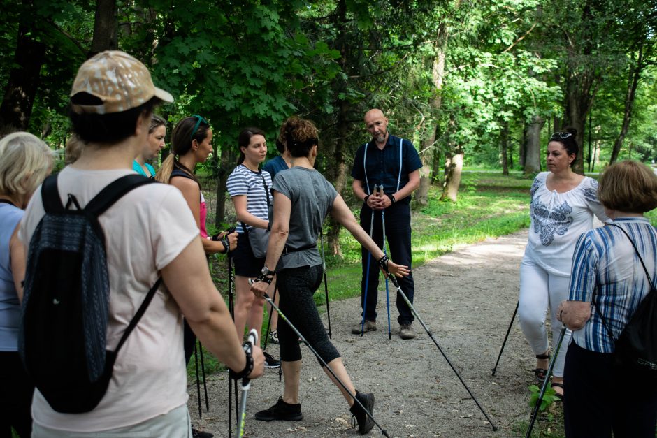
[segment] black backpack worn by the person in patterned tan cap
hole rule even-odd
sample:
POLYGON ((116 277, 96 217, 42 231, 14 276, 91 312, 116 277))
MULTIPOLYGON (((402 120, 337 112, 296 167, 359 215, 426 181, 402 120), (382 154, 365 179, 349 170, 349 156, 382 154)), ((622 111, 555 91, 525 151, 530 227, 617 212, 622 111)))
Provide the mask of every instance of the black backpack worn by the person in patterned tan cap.
POLYGON ((62 205, 57 175, 43 182, 45 215, 29 242, 18 348, 36 388, 57 412, 79 414, 99 404, 117 353, 161 284, 159 278, 147 293, 116 349, 106 351, 110 284, 98 217, 151 182, 142 175, 120 177, 85 208, 72 194, 62 205))

